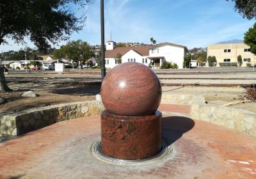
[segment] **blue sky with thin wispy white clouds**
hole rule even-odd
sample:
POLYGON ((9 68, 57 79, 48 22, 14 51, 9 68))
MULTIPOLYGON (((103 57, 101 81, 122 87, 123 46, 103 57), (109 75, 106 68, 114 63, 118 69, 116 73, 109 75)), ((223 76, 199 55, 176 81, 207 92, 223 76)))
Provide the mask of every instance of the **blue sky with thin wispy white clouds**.
MULTIPOLYGON (((234 3, 225 0, 106 0, 105 40, 115 42, 170 42, 193 47, 243 39, 255 20, 234 12, 234 3)), ((100 1, 88 6, 86 26, 70 40, 100 44, 100 1)), ((32 43, 28 42, 28 46, 32 43)), ((24 45, 1 45, 1 51, 18 50, 24 45)), ((67 42, 60 42, 60 45, 67 42)))

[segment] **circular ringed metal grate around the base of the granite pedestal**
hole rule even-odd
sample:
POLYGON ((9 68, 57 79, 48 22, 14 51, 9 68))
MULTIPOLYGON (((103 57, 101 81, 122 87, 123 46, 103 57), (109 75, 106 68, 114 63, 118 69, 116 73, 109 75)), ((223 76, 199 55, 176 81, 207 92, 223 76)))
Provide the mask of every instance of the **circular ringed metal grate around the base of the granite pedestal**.
POLYGON ((100 139, 95 141, 92 144, 91 152, 94 157, 101 160, 102 162, 106 162, 109 164, 115 164, 119 166, 138 166, 138 165, 144 165, 144 164, 151 164, 154 162, 159 162, 161 160, 166 159, 167 157, 170 158, 173 155, 173 146, 166 146, 165 143, 162 143, 162 149, 161 152, 155 155, 154 157, 150 157, 148 159, 141 159, 141 160, 122 160, 122 159, 115 159, 112 157, 109 157, 108 155, 105 155, 102 153, 101 148, 101 142, 100 139))

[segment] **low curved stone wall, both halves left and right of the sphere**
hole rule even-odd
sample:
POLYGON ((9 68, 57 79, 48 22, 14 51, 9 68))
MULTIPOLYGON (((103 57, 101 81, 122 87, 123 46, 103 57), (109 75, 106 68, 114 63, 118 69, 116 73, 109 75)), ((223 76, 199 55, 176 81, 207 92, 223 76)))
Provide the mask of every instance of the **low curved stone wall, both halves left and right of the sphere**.
MULTIPOLYGON (((190 118, 233 128, 237 132, 256 137, 256 113, 206 104, 205 98, 200 95, 163 93, 161 103, 191 105, 190 118)), ((19 113, 0 114, 0 135, 19 136, 59 121, 97 116, 103 110, 104 106, 98 97, 97 101, 49 105, 19 113)))

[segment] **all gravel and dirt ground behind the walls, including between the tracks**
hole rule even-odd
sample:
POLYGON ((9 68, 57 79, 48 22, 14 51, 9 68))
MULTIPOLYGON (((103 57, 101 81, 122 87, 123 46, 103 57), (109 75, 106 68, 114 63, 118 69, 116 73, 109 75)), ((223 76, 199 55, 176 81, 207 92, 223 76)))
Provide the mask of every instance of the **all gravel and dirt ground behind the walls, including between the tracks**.
MULTIPOLYGON (((88 72, 98 71, 99 70, 88 70, 88 72)), ((163 70, 159 72, 169 71, 163 70)), ((182 72, 182 70, 180 70, 179 72, 182 72)), ((256 76, 252 72, 230 72, 229 74, 177 73, 159 75, 159 77, 174 78, 161 79, 162 82, 167 82, 170 84, 256 84, 256 76), (230 79, 221 80, 218 78, 230 79)), ((100 75, 90 74, 57 74, 52 72, 35 72, 32 74, 19 74, 17 72, 10 73, 6 75, 6 80, 8 81, 8 85, 10 86, 10 88, 12 88, 15 92, 0 94, 0 97, 8 98, 8 102, 6 104, 0 105, 0 111, 17 111, 22 109, 29 109, 29 107, 40 107, 43 105, 76 102, 81 100, 93 100, 95 98, 95 95, 100 92, 100 84, 76 84, 74 82, 100 81, 99 78, 100 75), (34 82, 29 81, 32 78, 38 79, 34 79, 34 82), (25 80, 26 82, 14 82, 15 80, 25 80), (31 98, 31 100, 29 100, 28 98, 21 98, 20 94, 28 90, 35 91, 40 95, 40 97, 31 98)), ((205 100, 207 100, 209 104, 216 105, 223 105, 230 102, 244 100, 244 95, 246 92, 244 88, 239 87, 215 86, 163 86, 163 91, 165 91, 165 93, 190 93, 194 95, 203 95, 205 97, 205 100)), ((232 105, 232 107, 255 112, 255 105, 253 104, 237 104, 232 105)))

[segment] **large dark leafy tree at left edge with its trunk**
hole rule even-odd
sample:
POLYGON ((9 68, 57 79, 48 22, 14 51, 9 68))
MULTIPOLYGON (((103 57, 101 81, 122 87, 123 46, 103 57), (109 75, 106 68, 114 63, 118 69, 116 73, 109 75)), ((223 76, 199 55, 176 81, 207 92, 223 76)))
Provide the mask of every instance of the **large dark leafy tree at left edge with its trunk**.
MULTIPOLYGON (((51 43, 67 40, 74 31, 79 31, 86 20, 84 13, 77 17, 74 9, 92 3, 92 0, 1 0, 0 1, 0 45, 12 38, 17 43, 24 43, 29 36, 39 50, 51 47, 51 43), (72 6, 74 7, 74 6, 72 6)), ((0 69, 0 92, 5 88, 3 68, 0 69)))

